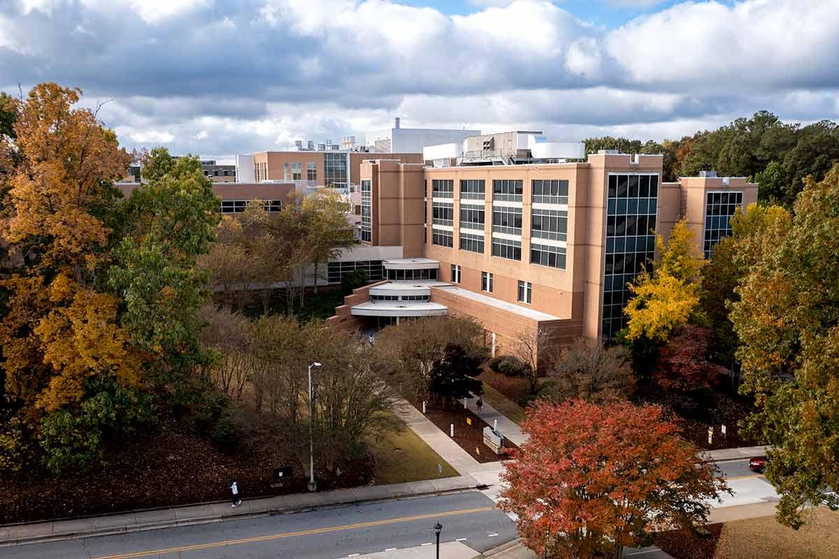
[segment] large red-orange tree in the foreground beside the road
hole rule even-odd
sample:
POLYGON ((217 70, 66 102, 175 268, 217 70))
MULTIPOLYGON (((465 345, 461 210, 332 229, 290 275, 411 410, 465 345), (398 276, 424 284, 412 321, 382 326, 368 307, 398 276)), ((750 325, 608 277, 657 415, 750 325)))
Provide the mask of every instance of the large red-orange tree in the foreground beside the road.
POLYGON ((524 544, 539 556, 619 557, 655 530, 706 524, 711 500, 729 489, 661 413, 628 401, 531 406, 529 441, 504 464, 499 505, 518 515, 524 544))

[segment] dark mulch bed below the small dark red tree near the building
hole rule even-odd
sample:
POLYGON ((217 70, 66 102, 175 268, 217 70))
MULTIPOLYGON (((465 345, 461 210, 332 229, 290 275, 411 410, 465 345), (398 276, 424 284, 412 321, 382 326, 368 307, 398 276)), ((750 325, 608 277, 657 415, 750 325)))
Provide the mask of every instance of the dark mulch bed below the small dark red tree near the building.
POLYGON ((665 417, 676 422, 682 437, 706 450, 753 447, 760 444, 741 432, 739 423, 753 410, 748 401, 726 391, 714 391, 708 401, 696 402, 675 392, 638 389, 638 403, 664 407, 665 417), (721 426, 726 426, 722 435, 721 426), (708 444, 708 427, 714 434, 708 444))

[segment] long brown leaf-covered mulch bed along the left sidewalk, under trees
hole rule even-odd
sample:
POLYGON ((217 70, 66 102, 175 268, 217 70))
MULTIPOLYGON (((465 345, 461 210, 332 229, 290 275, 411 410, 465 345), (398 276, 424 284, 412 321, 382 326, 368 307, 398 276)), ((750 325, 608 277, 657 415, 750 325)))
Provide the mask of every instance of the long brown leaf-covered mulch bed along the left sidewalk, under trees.
MULTIPOLYGON (((0 524, 229 499, 234 479, 246 499, 307 490, 302 468, 295 467, 284 487, 274 489, 271 476, 275 467, 285 465, 279 463, 282 457, 222 453, 188 421, 165 420, 158 430, 123 441, 107 453, 107 459, 107 466, 86 474, 53 478, 26 473, 19 479, 3 479, 0 524)), ((346 469, 352 475, 340 479, 315 469, 318 489, 367 484, 373 460, 346 469)))

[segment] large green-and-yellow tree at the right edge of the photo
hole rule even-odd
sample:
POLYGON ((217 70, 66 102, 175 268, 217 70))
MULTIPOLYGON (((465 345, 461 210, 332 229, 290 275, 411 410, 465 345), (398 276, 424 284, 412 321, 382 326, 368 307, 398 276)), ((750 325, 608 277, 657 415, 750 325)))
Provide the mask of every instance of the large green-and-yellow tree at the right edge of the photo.
POLYGON ((781 494, 779 520, 798 527, 806 506, 839 508, 839 166, 821 183, 805 180, 781 227, 750 237, 759 250, 731 320, 742 390, 757 406, 748 428, 772 445, 766 475, 781 494))

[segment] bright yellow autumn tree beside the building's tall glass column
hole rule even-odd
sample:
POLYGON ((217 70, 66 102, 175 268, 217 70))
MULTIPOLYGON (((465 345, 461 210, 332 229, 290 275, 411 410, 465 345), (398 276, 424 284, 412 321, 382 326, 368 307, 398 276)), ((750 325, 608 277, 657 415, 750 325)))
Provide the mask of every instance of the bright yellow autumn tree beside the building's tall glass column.
POLYGON ((629 317, 627 338, 665 342, 684 326, 699 304, 699 272, 705 261, 682 218, 673 225, 667 243, 656 237, 658 258, 653 272, 643 272, 629 286, 633 298, 624 313, 629 317))

